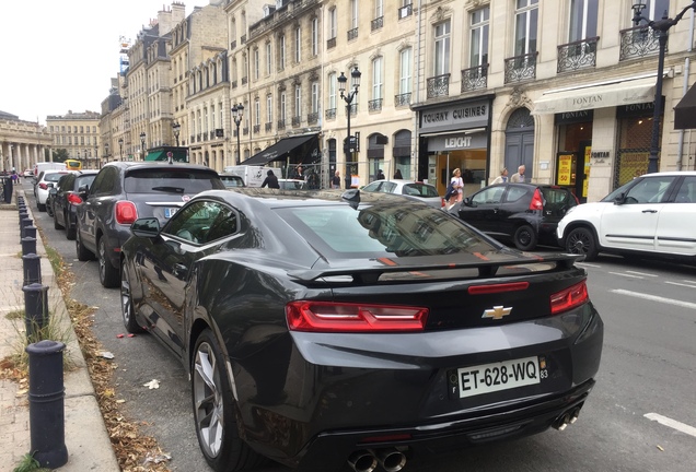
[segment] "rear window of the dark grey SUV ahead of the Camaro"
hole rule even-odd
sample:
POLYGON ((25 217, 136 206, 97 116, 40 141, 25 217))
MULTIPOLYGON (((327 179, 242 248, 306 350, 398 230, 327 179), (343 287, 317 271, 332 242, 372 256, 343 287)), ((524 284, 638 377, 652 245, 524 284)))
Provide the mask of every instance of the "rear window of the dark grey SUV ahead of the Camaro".
POLYGON ((224 189, 213 172, 166 168, 134 169, 126 174, 127 193, 199 193, 210 189, 224 189))

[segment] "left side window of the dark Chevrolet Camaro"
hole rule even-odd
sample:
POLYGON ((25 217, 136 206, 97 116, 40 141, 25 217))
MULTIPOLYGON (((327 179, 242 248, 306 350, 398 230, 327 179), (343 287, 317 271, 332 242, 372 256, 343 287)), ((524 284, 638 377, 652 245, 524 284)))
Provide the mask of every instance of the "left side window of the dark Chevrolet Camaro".
POLYGON ((195 244, 206 244, 237 231, 236 213, 217 202, 197 201, 179 210, 162 233, 195 244))

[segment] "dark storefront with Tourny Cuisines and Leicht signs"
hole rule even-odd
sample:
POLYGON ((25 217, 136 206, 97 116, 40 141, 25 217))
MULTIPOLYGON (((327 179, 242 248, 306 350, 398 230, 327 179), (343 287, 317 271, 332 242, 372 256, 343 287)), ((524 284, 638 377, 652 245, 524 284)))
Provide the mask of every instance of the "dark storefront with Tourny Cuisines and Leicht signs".
POLYGON ((418 110, 419 169, 443 194, 455 168, 461 169, 464 194, 487 181, 492 96, 449 103, 418 110))

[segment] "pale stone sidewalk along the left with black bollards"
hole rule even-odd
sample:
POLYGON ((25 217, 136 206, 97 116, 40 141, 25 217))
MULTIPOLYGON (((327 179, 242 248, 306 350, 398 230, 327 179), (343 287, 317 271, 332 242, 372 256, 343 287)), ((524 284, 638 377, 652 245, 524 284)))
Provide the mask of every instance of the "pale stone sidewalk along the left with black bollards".
MULTIPOLYGON (((24 196, 15 190, 16 196, 24 196)), ((34 219, 35 209, 28 209, 34 219)), ((65 373, 65 436, 68 463, 60 472, 120 471, 96 402, 92 380, 80 351, 60 290, 54 280, 40 234, 36 234, 36 252, 40 256, 42 284, 48 288, 51 316, 59 317, 70 340, 63 355, 72 357, 77 368, 65 373)), ((0 358, 16 351, 24 335, 24 319, 9 320, 5 315, 24 309, 24 268, 20 244, 20 219, 15 200, 0 203, 0 358)), ((0 471, 13 471, 30 452, 31 432, 27 392, 10 380, 0 380, 0 471)))

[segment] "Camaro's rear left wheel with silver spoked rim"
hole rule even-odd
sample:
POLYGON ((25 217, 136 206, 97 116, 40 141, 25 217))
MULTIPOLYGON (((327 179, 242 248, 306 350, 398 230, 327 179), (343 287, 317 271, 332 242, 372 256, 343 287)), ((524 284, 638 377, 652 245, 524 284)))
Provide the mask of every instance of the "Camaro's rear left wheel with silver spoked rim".
POLYGON ((228 369, 210 329, 196 340, 190 373, 196 436, 212 470, 240 471, 265 462, 240 438, 228 369))

